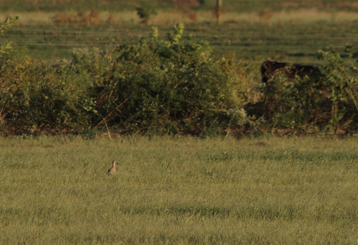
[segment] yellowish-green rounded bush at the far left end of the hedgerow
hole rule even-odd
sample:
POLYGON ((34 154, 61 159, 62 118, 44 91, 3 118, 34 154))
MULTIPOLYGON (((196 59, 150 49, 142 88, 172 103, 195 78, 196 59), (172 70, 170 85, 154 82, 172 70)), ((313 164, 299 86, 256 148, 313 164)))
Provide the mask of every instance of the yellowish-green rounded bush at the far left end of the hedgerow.
POLYGON ((34 133, 48 129, 78 130, 87 120, 81 90, 61 66, 33 60, 22 50, 0 60, 1 129, 34 133))

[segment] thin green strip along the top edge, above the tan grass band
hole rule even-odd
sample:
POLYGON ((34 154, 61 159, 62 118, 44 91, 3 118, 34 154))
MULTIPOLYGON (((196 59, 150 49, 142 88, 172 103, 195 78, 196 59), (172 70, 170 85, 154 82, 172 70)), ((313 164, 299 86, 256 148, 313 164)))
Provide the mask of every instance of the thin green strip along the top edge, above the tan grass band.
MULTIPOLYGON (((158 9, 185 8, 195 10, 212 9, 216 0, 0 0, 1 11, 67 11, 69 9, 122 11, 132 10, 143 5, 152 5, 158 9), (201 4, 199 4, 201 2, 201 4)), ((231 12, 257 11, 269 8, 274 11, 282 9, 300 9, 314 7, 319 10, 357 11, 355 0, 223 0, 223 8, 231 12)))

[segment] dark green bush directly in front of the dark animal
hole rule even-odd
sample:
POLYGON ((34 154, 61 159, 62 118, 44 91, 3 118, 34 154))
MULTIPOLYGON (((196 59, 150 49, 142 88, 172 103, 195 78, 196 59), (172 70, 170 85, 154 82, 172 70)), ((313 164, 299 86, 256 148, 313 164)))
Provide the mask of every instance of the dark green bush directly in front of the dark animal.
POLYGON ((300 129, 326 125, 322 118, 330 111, 322 78, 296 78, 288 81, 284 74, 276 75, 265 88, 263 113, 273 127, 300 129))

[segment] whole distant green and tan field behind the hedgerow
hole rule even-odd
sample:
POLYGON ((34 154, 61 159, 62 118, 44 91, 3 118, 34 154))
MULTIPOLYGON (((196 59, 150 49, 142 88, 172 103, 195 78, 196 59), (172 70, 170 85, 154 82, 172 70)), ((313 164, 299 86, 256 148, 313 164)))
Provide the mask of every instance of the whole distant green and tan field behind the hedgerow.
POLYGON ((223 0, 219 24, 212 13, 214 5, 215 0, 199 5, 195 0, 0 1, 0 19, 20 16, 20 24, 5 32, 2 43, 15 41, 46 61, 71 59, 74 47, 106 49, 128 43, 147 37, 151 25, 166 38, 175 23, 183 22, 184 38, 207 40, 216 54, 234 51, 243 60, 314 64, 320 49, 332 46, 343 51, 346 43, 357 47, 356 1, 223 0), (149 3, 158 14, 144 25, 135 7, 149 3), (89 16, 93 9, 95 23, 61 22, 66 17, 78 19, 79 14, 89 16))

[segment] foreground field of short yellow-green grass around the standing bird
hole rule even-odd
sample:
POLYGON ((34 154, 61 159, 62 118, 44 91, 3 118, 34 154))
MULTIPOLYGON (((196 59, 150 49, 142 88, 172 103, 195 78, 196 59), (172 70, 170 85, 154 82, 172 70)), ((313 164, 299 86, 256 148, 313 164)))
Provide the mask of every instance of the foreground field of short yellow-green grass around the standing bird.
POLYGON ((357 243, 356 138, 40 136, 0 149, 0 244, 357 243))

